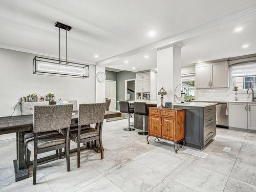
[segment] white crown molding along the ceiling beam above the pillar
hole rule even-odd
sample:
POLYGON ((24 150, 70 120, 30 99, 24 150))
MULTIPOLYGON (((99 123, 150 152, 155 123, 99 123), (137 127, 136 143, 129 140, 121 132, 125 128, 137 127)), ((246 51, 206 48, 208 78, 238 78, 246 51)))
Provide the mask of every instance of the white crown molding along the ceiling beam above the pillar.
POLYGON ((218 19, 215 22, 211 22, 211 23, 208 23, 206 25, 200 26, 198 28, 188 30, 186 32, 183 32, 183 33, 180 33, 180 34, 177 34, 177 35, 174 35, 174 36, 167 37, 165 39, 153 42, 152 44, 149 44, 149 45, 146 45, 146 46, 143 46, 143 47, 140 47, 140 48, 137 48, 137 49, 134 49, 134 50, 131 50, 131 51, 113 56, 113 57, 110 57, 108 59, 98 61, 96 63, 97 63, 98 66, 104 66, 104 65, 106 66, 110 62, 119 60, 119 59, 124 58, 124 57, 129 57, 131 55, 135 55, 135 54, 145 52, 145 51, 148 51, 148 50, 152 50, 152 49, 161 49, 163 47, 172 46, 172 45, 177 44, 178 42, 180 42, 184 39, 187 39, 189 37, 193 37, 193 36, 205 33, 205 32, 207 32, 207 31, 209 31, 209 30, 211 30, 211 29, 213 29, 213 28, 215 28, 219 25, 231 22, 232 20, 236 20, 236 19, 248 16, 248 15, 251 15, 251 14, 255 14, 255 13, 256 13, 256 7, 252 7, 250 9, 246 9, 246 10, 241 11, 239 13, 235 13, 235 14, 229 15, 227 17, 218 19))

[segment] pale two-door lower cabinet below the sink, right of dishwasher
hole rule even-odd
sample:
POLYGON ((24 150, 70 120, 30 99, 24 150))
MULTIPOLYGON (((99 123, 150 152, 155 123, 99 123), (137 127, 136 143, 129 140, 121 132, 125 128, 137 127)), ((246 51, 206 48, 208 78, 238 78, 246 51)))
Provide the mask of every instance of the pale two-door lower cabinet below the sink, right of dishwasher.
POLYGON ((228 112, 229 127, 256 130, 256 103, 231 102, 228 112))

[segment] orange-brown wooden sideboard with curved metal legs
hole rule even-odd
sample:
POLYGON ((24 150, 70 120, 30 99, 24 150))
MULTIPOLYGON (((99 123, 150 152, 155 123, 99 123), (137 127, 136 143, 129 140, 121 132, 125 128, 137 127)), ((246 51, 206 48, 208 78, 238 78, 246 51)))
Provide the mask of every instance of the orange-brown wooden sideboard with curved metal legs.
POLYGON ((154 136, 174 142, 177 153, 180 141, 185 138, 185 110, 173 108, 148 108, 148 137, 154 136))

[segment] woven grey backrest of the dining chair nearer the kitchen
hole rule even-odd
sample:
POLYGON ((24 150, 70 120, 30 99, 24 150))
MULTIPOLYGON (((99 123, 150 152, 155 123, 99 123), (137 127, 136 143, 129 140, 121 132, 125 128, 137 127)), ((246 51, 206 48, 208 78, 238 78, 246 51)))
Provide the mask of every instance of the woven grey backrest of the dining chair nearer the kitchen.
POLYGON ((79 104, 78 125, 103 122, 105 108, 106 103, 79 104))

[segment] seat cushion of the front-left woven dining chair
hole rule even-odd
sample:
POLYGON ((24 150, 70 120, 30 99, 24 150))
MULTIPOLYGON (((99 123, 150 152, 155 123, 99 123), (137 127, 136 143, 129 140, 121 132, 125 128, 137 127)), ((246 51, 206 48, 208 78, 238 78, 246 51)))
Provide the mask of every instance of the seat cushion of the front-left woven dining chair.
MULTIPOLYGON (((38 137, 37 148, 39 150, 40 148, 51 147, 51 146, 60 145, 63 143, 65 143, 65 136, 63 134, 56 133, 56 134, 50 134, 50 135, 42 135, 38 137)), ((28 141, 27 147, 29 151, 34 150, 34 139, 28 141)))

